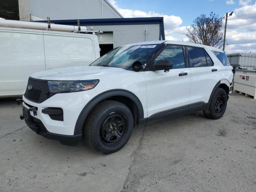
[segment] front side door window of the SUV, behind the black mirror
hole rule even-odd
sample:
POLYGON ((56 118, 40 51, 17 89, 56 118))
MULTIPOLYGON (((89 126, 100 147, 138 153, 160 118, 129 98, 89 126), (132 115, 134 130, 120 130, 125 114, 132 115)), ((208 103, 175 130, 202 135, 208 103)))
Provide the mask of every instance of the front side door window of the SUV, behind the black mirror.
POLYGON ((184 68, 184 54, 181 46, 168 46, 156 58, 155 64, 159 60, 169 60, 173 64, 173 69, 184 68))

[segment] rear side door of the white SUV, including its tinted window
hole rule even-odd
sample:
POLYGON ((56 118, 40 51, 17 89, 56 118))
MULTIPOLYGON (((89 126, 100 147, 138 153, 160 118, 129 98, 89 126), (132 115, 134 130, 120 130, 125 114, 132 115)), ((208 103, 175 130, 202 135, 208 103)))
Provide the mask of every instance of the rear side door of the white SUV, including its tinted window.
POLYGON ((204 48, 186 47, 191 70, 190 102, 207 103, 214 86, 218 83, 218 66, 204 48))

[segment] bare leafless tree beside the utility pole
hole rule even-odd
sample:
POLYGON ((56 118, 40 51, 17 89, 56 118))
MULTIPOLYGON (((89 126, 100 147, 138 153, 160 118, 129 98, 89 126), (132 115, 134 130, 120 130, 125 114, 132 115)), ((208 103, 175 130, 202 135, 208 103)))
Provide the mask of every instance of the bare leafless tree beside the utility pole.
POLYGON ((220 48, 223 43, 222 17, 211 12, 210 16, 201 14, 187 28, 189 40, 194 43, 220 48))

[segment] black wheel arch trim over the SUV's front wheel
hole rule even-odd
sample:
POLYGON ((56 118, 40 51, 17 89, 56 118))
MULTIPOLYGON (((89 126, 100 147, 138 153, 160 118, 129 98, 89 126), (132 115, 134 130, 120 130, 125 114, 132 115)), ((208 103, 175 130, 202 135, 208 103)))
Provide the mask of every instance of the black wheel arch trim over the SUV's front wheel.
POLYGON ((76 120, 76 125, 74 128, 74 135, 76 134, 82 134, 82 128, 84 126, 84 122, 90 113, 90 111, 101 101, 110 98, 112 96, 125 96, 127 98, 130 98, 137 106, 139 111, 139 119, 144 118, 144 110, 143 106, 139 100, 139 98, 132 92, 128 90, 123 89, 114 89, 114 90, 108 90, 105 92, 102 92, 98 95, 96 95, 94 98, 92 98, 82 109, 80 112, 78 119, 76 120))

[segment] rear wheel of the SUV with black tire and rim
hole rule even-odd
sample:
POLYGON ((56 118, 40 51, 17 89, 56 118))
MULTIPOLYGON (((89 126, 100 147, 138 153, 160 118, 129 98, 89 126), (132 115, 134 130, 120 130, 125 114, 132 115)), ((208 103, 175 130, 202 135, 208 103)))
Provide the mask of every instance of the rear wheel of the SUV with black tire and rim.
POLYGON ((203 111, 204 115, 210 119, 221 118, 226 110, 227 102, 228 96, 226 91, 222 88, 218 88, 210 101, 209 108, 203 111))

